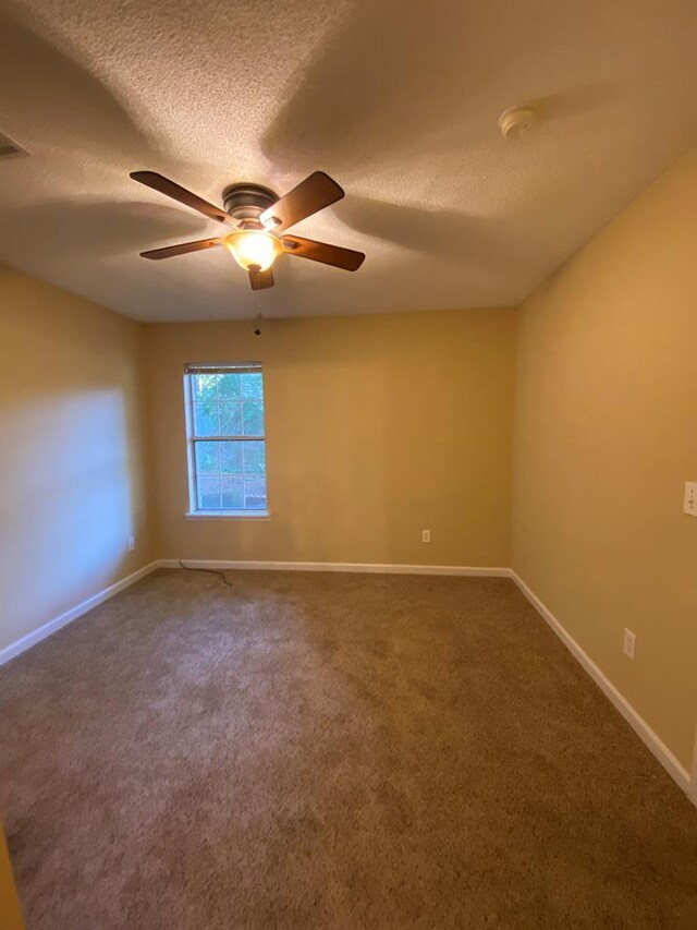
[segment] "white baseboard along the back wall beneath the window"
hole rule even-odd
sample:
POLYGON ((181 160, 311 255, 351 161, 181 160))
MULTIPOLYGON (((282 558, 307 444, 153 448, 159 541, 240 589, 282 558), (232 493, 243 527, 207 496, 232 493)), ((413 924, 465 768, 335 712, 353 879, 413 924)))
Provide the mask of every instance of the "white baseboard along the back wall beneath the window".
MULTIPOLYGON (((358 561, 221 561, 184 558, 187 568, 219 570, 253 569, 266 571, 359 571, 376 575, 460 575, 470 578, 509 578, 510 568, 479 568, 465 565, 380 565, 358 561)), ((160 568, 181 568, 180 559, 161 558, 160 568)))

